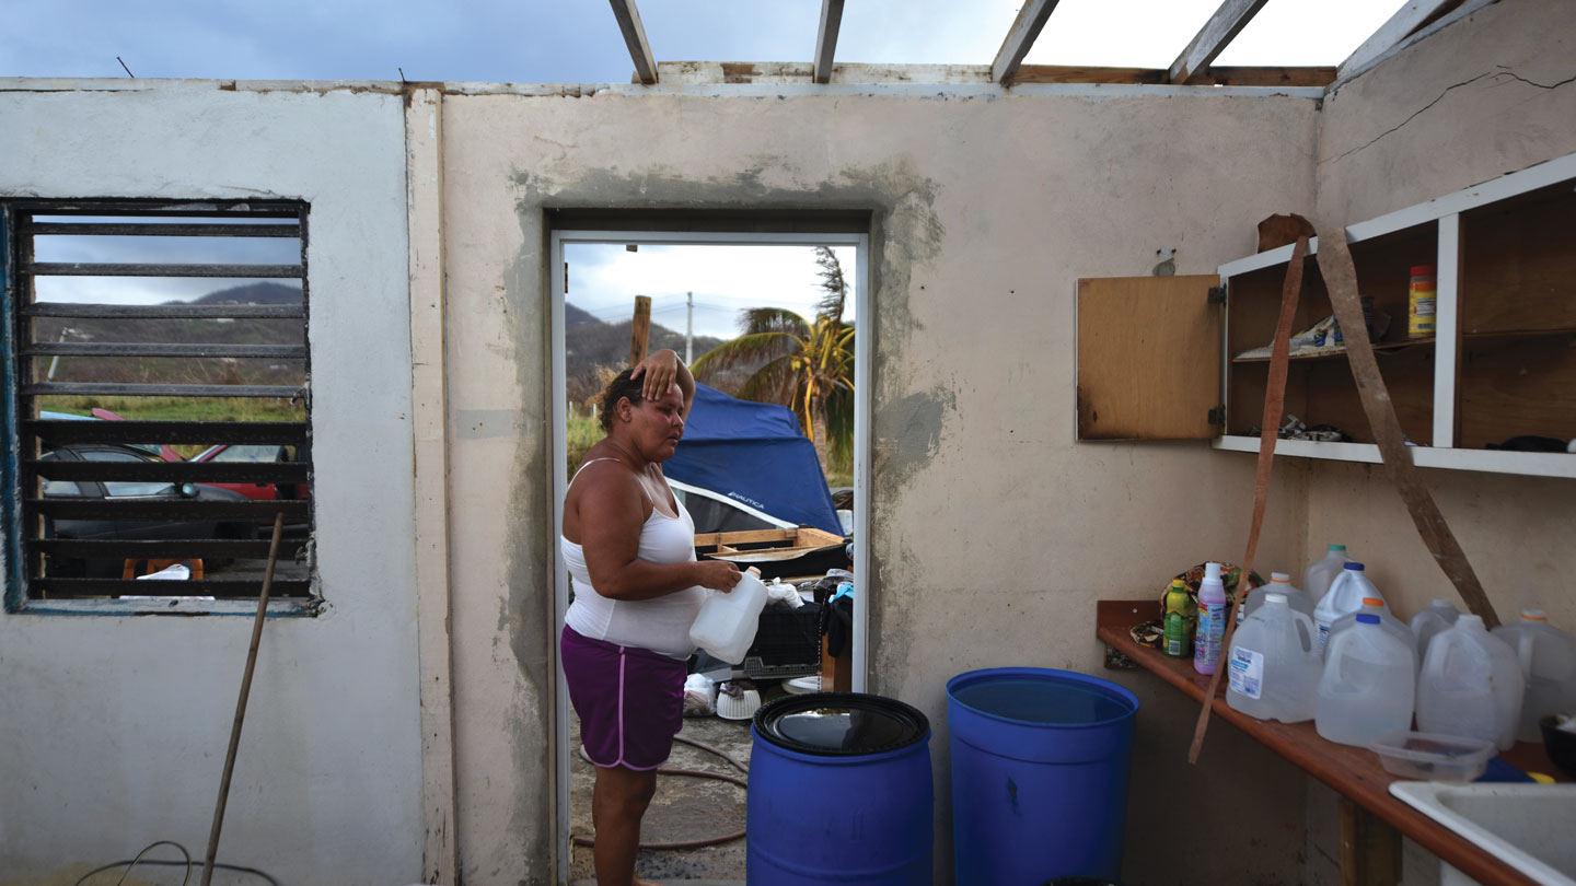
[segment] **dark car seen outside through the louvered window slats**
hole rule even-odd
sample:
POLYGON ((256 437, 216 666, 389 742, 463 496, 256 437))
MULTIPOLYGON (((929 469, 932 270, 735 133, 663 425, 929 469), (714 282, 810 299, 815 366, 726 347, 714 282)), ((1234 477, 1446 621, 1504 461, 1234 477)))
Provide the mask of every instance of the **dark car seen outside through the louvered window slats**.
MULTIPOLYGON (((44 452, 41 462, 159 462, 154 454, 132 446, 113 443, 79 443, 58 446, 44 452)), ((145 482, 145 481, 63 481, 44 479, 44 498, 99 498, 99 500, 197 500, 197 501, 247 501, 240 492, 214 489, 200 484, 145 482)), ((47 538, 58 539, 106 539, 106 541, 158 541, 158 539, 252 539, 257 530, 249 520, 112 520, 112 519, 52 519, 47 538)), ((90 558, 50 563, 50 574, 61 577, 118 579, 125 560, 90 558)))

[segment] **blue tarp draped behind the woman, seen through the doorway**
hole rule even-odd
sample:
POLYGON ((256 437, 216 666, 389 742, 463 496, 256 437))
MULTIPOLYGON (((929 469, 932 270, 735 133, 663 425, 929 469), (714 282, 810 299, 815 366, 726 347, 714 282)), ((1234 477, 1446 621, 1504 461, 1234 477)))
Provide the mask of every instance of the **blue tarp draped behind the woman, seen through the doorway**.
POLYGON ((662 473, 779 522, 843 534, 815 443, 786 407, 738 400, 697 382, 684 440, 662 473))

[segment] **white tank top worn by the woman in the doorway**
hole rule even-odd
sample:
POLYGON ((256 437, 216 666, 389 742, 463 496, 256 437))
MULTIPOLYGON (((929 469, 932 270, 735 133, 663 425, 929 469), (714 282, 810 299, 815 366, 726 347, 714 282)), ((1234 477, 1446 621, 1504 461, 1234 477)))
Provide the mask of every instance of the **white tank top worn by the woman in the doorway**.
MULTIPOLYGON (((586 462, 586 465, 589 463, 586 462)), ((580 470, 583 471, 585 465, 580 470)), ((575 476, 578 478, 580 473, 575 471, 575 476)), ((569 482, 574 486, 572 479, 569 482)), ((678 517, 668 517, 652 504, 651 517, 646 517, 645 525, 640 527, 640 550, 637 553, 640 560, 646 563, 695 561, 695 520, 690 519, 682 501, 675 498, 675 504, 678 504, 678 517)), ((569 566, 575 591, 575 602, 569 604, 564 623, 575 632, 619 646, 640 646, 675 659, 687 659, 695 651, 689 629, 695 623, 701 604, 706 602, 704 588, 697 585, 646 601, 604 597, 591 586, 585 549, 563 536, 558 538, 558 544, 564 563, 569 566)))

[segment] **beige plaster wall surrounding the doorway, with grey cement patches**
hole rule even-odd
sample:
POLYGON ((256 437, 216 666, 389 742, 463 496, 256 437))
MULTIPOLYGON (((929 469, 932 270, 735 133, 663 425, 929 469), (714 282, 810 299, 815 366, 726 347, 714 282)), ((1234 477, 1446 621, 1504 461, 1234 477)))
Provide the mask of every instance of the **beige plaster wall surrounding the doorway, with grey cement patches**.
MULTIPOLYGON (((1251 459, 1073 441, 1075 281, 1146 274, 1162 246, 1177 248, 1179 273, 1251 252, 1258 219, 1313 202, 1314 102, 678 93, 444 98, 465 881, 536 883, 553 842, 553 207, 875 211, 875 317, 860 318, 876 336, 872 687, 931 717, 949 869, 946 679, 1009 664, 1100 672, 1095 599, 1157 594, 1185 566, 1239 560, 1247 538, 1251 459)), ((1303 560, 1303 470, 1278 473, 1264 571, 1303 560)), ((1114 678, 1146 705, 1132 880, 1291 877, 1294 769, 1218 725, 1214 765, 1187 766, 1196 706, 1147 675, 1114 678), (1182 801, 1162 796, 1256 825, 1223 826, 1198 853, 1173 818, 1182 801)))

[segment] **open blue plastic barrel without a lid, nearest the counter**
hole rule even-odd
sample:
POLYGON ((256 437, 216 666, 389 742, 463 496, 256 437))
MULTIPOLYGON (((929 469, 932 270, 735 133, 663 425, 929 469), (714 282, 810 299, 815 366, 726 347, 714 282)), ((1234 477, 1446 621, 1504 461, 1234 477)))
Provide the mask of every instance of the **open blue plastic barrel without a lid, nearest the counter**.
POLYGON ((958 886, 1119 880, 1138 697, 1065 670, 947 681, 958 886))

